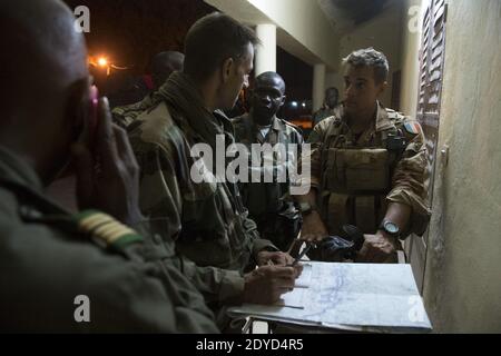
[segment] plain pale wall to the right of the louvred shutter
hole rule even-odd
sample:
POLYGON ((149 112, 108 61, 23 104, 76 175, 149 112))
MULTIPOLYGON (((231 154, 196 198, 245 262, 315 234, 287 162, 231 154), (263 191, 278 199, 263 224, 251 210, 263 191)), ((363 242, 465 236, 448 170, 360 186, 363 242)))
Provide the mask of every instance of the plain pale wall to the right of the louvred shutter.
POLYGON ((424 284, 436 332, 501 332, 501 1, 451 0, 424 284))

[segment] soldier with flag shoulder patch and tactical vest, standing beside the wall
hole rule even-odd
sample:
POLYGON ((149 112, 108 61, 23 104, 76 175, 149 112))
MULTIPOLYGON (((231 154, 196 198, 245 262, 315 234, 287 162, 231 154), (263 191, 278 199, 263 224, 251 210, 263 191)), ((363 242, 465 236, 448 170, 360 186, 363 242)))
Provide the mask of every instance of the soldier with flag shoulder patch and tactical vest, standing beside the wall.
POLYGON ((302 238, 318 241, 356 225, 361 261, 394 261, 400 239, 429 220, 426 149, 418 121, 385 109, 387 60, 374 49, 345 60, 345 100, 312 135, 312 190, 299 197, 302 238))

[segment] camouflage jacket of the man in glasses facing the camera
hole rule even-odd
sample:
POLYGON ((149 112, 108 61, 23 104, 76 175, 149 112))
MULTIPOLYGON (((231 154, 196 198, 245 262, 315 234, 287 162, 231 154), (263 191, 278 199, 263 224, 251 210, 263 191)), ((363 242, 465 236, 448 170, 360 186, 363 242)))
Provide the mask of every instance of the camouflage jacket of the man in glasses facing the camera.
MULTIPOLYGON (((301 156, 301 145, 303 144, 303 137, 298 129, 292 123, 278 119, 275 117, 272 121, 272 127, 268 134, 263 137, 258 127, 254 123, 250 113, 243 115, 232 120, 235 128, 235 141, 244 144, 247 147, 248 152, 252 152, 253 144, 269 144, 272 147, 276 144, 296 145, 297 150, 295 157, 287 156, 286 161, 282 164, 282 167, 277 167, 276 157, 273 165, 274 181, 273 182, 244 182, 240 184, 240 194, 245 207, 249 210, 249 216, 253 219, 262 219, 263 216, 272 214, 286 214, 294 216, 297 211, 294 208, 294 204, 289 196, 289 179, 285 182, 278 182, 276 177, 277 169, 285 169, 287 165, 294 165, 296 158, 301 156)), ((291 150, 292 152, 292 150, 291 150)), ((249 164, 252 159, 249 156, 249 164)), ((253 167, 254 169, 264 170, 263 165, 261 167, 253 167)), ((262 174, 263 178, 263 174, 262 174)), ((250 181, 250 179, 249 179, 250 181)))

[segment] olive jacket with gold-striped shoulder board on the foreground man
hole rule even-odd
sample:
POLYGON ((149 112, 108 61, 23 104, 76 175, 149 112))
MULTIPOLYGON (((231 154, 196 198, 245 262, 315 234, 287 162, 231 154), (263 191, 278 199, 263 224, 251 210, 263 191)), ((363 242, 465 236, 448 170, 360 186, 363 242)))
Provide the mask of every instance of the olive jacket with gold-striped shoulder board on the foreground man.
POLYGON ((217 332, 173 250, 160 253, 148 235, 98 211, 66 212, 31 167, 1 147, 0 236, 3 333, 217 332), (77 296, 89 298, 89 323, 75 318, 77 296))

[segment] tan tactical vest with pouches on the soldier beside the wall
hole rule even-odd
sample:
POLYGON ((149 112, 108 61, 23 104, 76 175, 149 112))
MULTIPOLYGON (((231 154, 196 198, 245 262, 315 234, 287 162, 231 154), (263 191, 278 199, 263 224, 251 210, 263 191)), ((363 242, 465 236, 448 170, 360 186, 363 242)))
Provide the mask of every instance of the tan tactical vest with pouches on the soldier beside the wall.
MULTIPOLYGON (((403 118, 387 110, 391 121, 403 118)), ((321 150, 318 208, 331 235, 346 224, 374 234, 386 214, 386 195, 406 146, 402 130, 392 125, 375 131, 367 146, 357 146, 347 125, 335 118, 321 150)))

